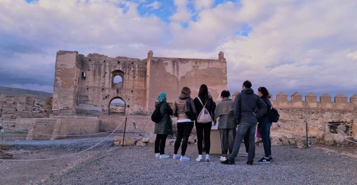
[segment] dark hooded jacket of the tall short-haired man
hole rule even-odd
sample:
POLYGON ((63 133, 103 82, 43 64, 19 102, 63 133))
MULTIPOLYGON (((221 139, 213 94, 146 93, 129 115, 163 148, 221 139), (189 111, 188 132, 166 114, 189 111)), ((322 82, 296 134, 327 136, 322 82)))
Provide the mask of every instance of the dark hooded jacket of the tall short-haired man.
POLYGON ((257 123, 267 109, 265 102, 256 94, 253 89, 246 88, 236 96, 234 101, 234 116, 237 124, 257 123))

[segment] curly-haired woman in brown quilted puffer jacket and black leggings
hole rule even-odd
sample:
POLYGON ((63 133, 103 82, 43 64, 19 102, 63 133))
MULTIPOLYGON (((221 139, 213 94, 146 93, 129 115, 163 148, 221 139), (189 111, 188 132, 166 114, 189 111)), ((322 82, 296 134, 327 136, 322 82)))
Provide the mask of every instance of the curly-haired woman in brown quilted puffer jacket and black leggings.
POLYGON ((188 87, 182 88, 181 95, 178 97, 178 99, 175 100, 174 103, 174 116, 177 117, 177 138, 175 141, 175 150, 174 150, 174 159, 180 158, 180 161, 189 161, 190 158, 185 156, 186 149, 187 149, 187 144, 188 144, 188 137, 190 137, 192 128, 193 128, 193 121, 195 115, 193 115, 193 120, 190 119, 190 117, 187 116, 185 113, 185 108, 186 110, 191 110, 191 112, 194 114, 196 113, 196 107, 195 104, 193 103, 192 98, 190 97, 191 95, 191 90, 188 87), (189 106, 189 107, 186 107, 189 106), (182 146, 181 146, 181 157, 177 154, 178 148, 180 148, 182 140, 182 146))

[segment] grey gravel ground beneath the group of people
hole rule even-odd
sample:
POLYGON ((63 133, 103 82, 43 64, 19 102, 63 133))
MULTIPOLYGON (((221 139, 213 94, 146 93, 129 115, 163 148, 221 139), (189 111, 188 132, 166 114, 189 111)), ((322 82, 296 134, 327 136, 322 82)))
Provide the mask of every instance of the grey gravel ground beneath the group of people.
MULTIPOLYGON (((263 148, 257 147, 253 166, 238 157, 235 165, 222 165, 219 155, 211 162, 196 162, 197 147, 188 146, 189 162, 157 159, 153 147, 115 147, 104 158, 44 184, 356 184, 357 159, 317 147, 273 147, 274 161, 258 164, 263 148)), ((244 146, 241 147, 243 152, 244 146)), ((166 147, 172 157, 173 146, 166 147)), ((242 153, 241 153, 242 154, 242 153)), ((238 155, 238 156, 241 156, 238 155)))

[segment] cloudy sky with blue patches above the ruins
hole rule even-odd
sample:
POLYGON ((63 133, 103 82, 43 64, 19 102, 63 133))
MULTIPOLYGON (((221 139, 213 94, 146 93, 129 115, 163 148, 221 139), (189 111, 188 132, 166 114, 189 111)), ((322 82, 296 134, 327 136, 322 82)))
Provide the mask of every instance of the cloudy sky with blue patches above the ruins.
POLYGON ((56 52, 227 59, 228 90, 357 93, 356 0, 1 0, 0 86, 52 93, 56 52))

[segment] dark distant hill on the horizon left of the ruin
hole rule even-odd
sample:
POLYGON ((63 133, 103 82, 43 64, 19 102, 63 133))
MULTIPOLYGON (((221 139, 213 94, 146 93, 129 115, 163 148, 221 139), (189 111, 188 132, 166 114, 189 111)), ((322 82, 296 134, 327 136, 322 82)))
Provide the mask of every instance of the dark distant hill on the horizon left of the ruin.
POLYGON ((52 93, 0 86, 0 95, 47 97, 52 96, 52 93))

